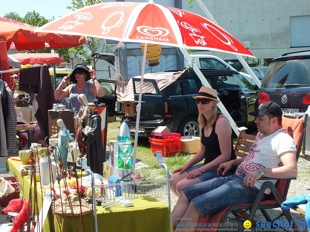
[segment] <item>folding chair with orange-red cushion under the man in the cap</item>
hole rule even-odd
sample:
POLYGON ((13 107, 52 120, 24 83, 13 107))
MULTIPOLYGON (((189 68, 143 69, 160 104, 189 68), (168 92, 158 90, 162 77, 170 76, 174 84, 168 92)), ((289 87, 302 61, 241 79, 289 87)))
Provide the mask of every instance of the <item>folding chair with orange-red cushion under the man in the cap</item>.
MULTIPOLYGON (((302 147, 301 141, 303 140, 303 136, 305 136, 305 130, 307 127, 307 118, 308 118, 307 114, 305 114, 304 116, 300 116, 300 117, 293 117, 293 116, 286 116, 286 115, 282 116, 283 128, 286 129, 286 131, 288 131, 290 133, 290 135, 292 135, 292 137, 296 143, 297 159, 299 158, 299 154, 300 154, 301 147, 302 147), (303 117, 303 118, 301 118, 301 117, 303 117)), ((263 216, 266 218, 267 222, 273 222, 282 216, 286 216, 286 219, 288 221, 293 221, 293 228, 294 228, 296 223, 295 223, 293 217, 291 216, 289 210, 282 209, 282 213, 278 217, 272 219, 269 216, 266 209, 279 208, 281 206, 281 203, 284 200, 286 200, 286 196, 287 196, 289 186, 290 186, 290 181, 291 181, 291 179, 295 179, 295 178, 279 179, 277 181, 276 185, 274 185, 272 182, 269 181, 272 179, 276 179, 276 178, 268 178, 268 177, 262 178, 262 180, 266 180, 266 182, 263 183, 261 189, 259 190, 259 194, 258 194, 255 202, 253 204, 233 205, 224 213, 224 216, 223 216, 221 222, 225 222, 227 220, 228 214, 230 214, 230 213, 233 213, 233 212, 234 213, 240 213, 240 211, 241 211, 241 213, 244 213, 247 210, 250 210, 250 213, 249 213, 248 217, 244 218, 244 219, 252 221, 257 209, 260 209, 263 216), (271 194, 269 194, 267 196, 265 195, 266 199, 261 201, 266 189, 270 189, 271 194)), ((221 224, 223 225, 223 223, 221 223, 221 224)), ((218 231, 222 231, 222 229, 223 229, 223 226, 221 228, 218 228, 218 231)))

